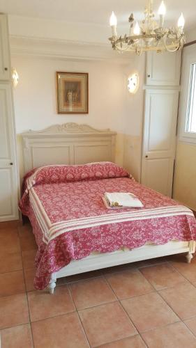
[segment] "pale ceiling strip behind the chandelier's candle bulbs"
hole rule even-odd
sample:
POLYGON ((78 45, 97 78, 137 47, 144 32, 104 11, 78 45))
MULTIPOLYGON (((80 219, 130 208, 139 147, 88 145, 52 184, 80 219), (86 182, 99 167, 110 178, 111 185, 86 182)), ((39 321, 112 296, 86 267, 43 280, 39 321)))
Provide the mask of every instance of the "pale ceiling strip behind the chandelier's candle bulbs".
MULTIPOLYGON (((55 19, 65 22, 99 24, 107 26, 112 10, 120 26, 127 25, 131 12, 142 19, 146 0, 0 0, 0 11, 9 15, 55 19)), ((160 0, 154 1, 157 13, 160 0)), ((186 29, 196 26, 195 0, 165 0, 167 20, 176 24, 181 12, 186 18, 186 29)))

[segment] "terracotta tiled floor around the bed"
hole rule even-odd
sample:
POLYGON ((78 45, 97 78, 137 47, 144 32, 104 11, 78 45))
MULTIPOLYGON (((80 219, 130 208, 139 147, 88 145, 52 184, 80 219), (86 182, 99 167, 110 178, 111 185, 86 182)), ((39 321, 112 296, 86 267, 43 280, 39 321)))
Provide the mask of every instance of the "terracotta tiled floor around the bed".
POLYGON ((196 256, 135 262, 33 290, 27 226, 0 224, 2 348, 196 348, 196 256))

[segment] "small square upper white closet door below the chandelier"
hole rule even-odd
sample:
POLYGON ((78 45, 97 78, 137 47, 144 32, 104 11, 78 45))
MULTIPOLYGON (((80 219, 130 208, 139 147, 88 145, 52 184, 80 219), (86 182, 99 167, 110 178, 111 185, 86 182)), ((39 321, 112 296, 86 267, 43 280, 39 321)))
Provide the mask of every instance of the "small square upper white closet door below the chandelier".
POLYGON ((146 85, 178 86, 181 71, 181 51, 170 53, 147 52, 146 85))

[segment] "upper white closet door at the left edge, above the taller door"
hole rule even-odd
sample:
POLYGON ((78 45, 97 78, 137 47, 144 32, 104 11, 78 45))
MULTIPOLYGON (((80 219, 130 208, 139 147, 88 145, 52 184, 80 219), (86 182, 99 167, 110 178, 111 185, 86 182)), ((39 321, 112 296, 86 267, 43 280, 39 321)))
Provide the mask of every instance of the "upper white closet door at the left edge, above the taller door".
POLYGON ((10 47, 6 15, 0 15, 0 80, 10 79, 10 47))

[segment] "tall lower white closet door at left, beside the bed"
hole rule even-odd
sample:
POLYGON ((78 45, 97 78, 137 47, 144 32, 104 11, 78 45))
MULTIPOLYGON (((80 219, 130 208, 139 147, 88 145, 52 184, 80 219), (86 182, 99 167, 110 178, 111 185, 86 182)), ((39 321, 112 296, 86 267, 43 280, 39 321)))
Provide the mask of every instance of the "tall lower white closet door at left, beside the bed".
POLYGON ((12 91, 0 84, 0 221, 17 220, 18 180, 12 91))

